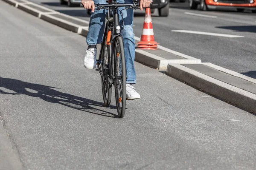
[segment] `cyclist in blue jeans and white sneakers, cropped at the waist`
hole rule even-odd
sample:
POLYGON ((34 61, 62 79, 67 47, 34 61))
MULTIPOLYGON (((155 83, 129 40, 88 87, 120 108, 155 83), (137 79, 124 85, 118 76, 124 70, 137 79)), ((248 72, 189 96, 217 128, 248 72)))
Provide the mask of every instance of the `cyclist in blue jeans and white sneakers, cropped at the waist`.
MULTIPOLYGON (((133 0, 116 0, 118 3, 133 3, 133 0)), ((87 34, 87 51, 84 54, 84 67, 87 69, 96 68, 96 45, 100 44, 103 40, 104 26, 105 26, 105 14, 107 10, 100 9, 95 11, 94 3, 106 4, 106 0, 81 0, 81 3, 84 5, 84 8, 91 9, 90 23, 89 23, 89 32, 87 34)), ((140 10, 143 11, 143 8, 149 7, 152 0, 140 0, 140 10)), ((122 10, 125 7, 120 7, 122 10)), ((119 13, 120 23, 123 17, 124 26, 123 29, 123 42, 125 48, 125 62, 126 62, 126 71, 127 71, 127 81, 126 81, 126 97, 128 99, 140 99, 140 94, 138 94, 132 84, 136 84, 137 77, 134 67, 134 58, 135 58, 135 40, 133 32, 133 8, 123 10, 122 17, 119 13)))

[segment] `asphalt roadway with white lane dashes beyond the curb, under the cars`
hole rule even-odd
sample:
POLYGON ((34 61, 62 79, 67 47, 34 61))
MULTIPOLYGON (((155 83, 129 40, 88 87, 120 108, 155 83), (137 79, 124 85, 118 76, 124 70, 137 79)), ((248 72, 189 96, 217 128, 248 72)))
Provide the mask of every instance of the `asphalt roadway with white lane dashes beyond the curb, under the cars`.
MULTIPOLYGON (((59 0, 30 0, 56 11, 89 20, 86 10, 80 7, 60 6, 59 0)), ((145 13, 134 14, 134 33, 141 36, 145 13)), ((190 10, 186 3, 170 3, 169 17, 152 14, 154 37, 160 45, 180 53, 212 62, 215 65, 256 78, 256 14, 234 10, 190 10), (187 13, 193 13, 187 14, 187 13), (195 16, 203 14, 205 16, 195 16), (209 18, 214 16, 215 18, 209 18), (244 37, 230 38, 202 34, 173 32, 172 30, 202 31, 244 37)))

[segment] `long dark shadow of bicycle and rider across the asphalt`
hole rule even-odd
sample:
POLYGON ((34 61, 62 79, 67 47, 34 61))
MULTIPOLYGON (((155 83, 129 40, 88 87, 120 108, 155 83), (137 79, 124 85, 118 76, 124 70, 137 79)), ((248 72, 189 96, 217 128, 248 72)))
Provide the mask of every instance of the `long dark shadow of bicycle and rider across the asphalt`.
MULTIPOLYGON (((73 109, 77 109, 80 111, 86 111, 87 113, 93 113, 101 116, 118 118, 116 114, 110 113, 108 111, 103 111, 101 109, 93 108, 92 106, 97 107, 104 107, 102 102, 97 102, 94 100, 86 99, 79 96, 74 96, 67 93, 62 93, 57 91, 55 87, 46 86, 46 85, 39 85, 29 82, 23 82, 17 79, 9 79, 0 77, 0 88, 6 88, 14 93, 5 92, 0 89, 0 94, 12 94, 12 95, 19 95, 24 94, 31 97, 38 97, 43 99, 46 102, 50 103, 58 103, 73 109), (95 111, 100 111, 100 113, 95 113, 95 111), (108 116, 111 115, 111 116, 108 116)), ((116 109, 115 106, 110 106, 108 108, 116 109)))

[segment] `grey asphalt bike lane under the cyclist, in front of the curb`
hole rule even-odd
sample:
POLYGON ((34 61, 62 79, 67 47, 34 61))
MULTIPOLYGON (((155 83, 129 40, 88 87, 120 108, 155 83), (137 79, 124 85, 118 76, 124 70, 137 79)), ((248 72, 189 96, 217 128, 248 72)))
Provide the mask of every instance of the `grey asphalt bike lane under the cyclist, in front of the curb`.
POLYGON ((116 119, 84 37, 2 1, 0 18, 0 141, 25 170, 255 169, 254 115, 136 62, 142 99, 116 119))

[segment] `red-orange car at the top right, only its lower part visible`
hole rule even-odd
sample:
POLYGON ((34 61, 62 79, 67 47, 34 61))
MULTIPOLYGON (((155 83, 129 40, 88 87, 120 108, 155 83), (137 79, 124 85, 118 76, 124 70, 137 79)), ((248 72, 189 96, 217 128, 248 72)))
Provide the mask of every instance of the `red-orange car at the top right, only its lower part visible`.
POLYGON ((243 12, 246 8, 256 13, 256 0, 189 0, 189 8, 207 11, 216 8, 236 8, 237 11, 243 12))

